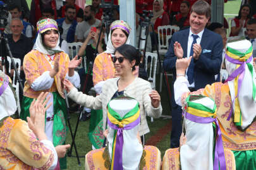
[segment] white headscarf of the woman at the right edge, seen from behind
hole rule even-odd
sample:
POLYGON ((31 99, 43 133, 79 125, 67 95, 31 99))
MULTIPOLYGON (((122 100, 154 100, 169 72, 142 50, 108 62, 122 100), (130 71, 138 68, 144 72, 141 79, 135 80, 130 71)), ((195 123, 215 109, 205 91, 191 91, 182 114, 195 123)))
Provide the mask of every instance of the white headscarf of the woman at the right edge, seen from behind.
MULTIPOLYGON (((250 43, 248 40, 242 40, 238 42, 231 42, 228 43, 228 47, 233 48, 235 50, 238 50, 240 52, 247 52, 247 50, 252 46, 252 43, 250 43)), ((226 62, 226 70, 228 71, 228 74, 231 75, 236 70, 236 64, 233 64, 229 62, 228 60, 226 62)), ((253 60, 250 62, 252 64, 253 60)), ((241 83, 240 93, 238 94, 238 101, 240 105, 241 115, 242 115, 242 125, 241 128, 245 129, 250 125, 253 121, 253 119, 256 116, 256 102, 253 101, 252 96, 252 83, 256 85, 255 81, 255 70, 253 68, 253 77, 250 73, 248 66, 245 65, 245 75, 243 77, 243 81, 241 83)), ((229 91, 231 94, 231 99, 235 98, 235 80, 228 81, 229 91)), ((235 105, 233 105, 233 110, 235 110, 235 105)))

